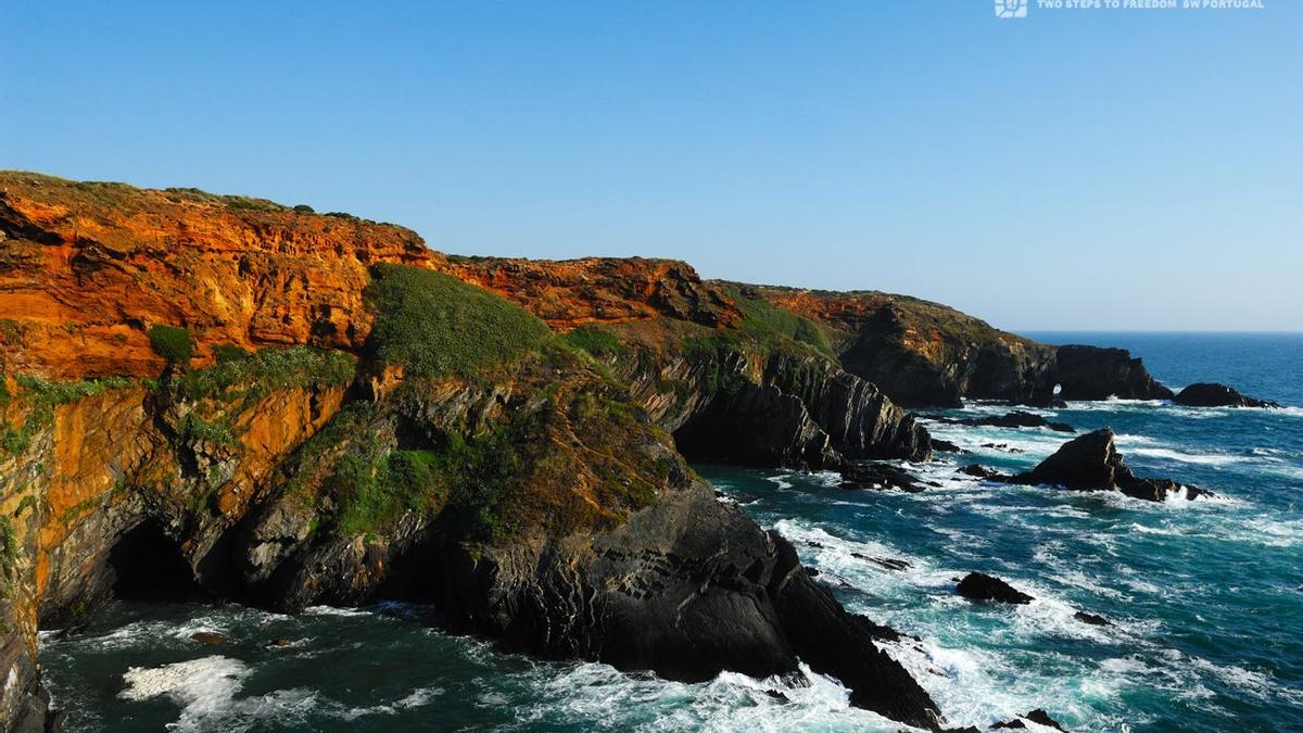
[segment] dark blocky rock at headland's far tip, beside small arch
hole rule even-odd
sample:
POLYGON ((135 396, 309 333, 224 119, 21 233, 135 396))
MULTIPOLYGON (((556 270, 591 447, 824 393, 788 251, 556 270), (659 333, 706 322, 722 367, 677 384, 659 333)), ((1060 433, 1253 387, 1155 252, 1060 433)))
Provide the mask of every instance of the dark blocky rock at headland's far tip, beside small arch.
POLYGON ((1171 399, 1171 390, 1149 376, 1124 348, 1061 346, 1055 352, 1061 399, 1171 399))

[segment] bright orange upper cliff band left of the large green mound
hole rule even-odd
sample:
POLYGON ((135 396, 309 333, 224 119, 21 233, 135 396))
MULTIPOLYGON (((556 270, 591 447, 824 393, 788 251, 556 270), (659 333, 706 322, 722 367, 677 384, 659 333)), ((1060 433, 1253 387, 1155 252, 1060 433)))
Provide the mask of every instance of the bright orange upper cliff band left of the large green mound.
POLYGON ((367 266, 435 257, 403 227, 255 203, 0 173, 0 370, 152 377, 160 323, 195 334, 197 364, 216 343, 357 348, 367 266))

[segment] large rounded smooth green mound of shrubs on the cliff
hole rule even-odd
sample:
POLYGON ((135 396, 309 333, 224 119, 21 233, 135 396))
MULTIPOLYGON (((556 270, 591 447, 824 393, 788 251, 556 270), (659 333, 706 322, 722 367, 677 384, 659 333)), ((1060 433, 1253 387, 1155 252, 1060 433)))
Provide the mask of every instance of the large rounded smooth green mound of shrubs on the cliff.
POLYGON ((418 377, 473 378, 539 350, 552 338, 532 313, 457 278, 378 265, 366 299, 375 312, 371 348, 418 377))

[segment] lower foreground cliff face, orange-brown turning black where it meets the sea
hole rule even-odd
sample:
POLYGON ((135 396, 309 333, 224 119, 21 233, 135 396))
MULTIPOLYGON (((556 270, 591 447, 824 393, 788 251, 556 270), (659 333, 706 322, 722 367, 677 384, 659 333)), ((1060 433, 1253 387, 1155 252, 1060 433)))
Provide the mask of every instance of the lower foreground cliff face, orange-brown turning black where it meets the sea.
POLYGON ((408 381, 375 403, 341 403, 334 385, 236 390, 218 402, 126 386, 57 407, 29 451, 3 463, 13 477, 26 475, 13 470, 23 462, 51 462, 66 481, 34 485, 46 500, 18 537, 34 561, 20 569, 18 593, 33 603, 18 609, 31 638, 12 634, 4 648, 33 691, 7 712, 40 702, 34 665, 21 666, 35 660, 38 608, 72 621, 109 597, 115 574, 130 570, 115 566, 115 550, 150 524, 167 545, 159 552, 216 597, 284 610, 417 599, 453 627, 521 651, 675 680, 787 673, 800 659, 842 680, 856 704, 936 725, 926 693, 873 644, 889 630, 847 614, 782 537, 717 502, 616 385, 564 359, 539 357, 490 385, 408 381), (301 400, 300 390, 315 396, 301 400), (331 412, 293 413, 301 402, 331 412), (302 429, 258 428, 272 410, 302 429), (182 416, 233 420, 240 449, 179 430, 182 416), (507 445, 508 533, 468 537, 466 515, 440 492, 365 527, 340 524, 357 490, 349 462, 443 450, 453 432, 506 420, 529 425, 507 445))

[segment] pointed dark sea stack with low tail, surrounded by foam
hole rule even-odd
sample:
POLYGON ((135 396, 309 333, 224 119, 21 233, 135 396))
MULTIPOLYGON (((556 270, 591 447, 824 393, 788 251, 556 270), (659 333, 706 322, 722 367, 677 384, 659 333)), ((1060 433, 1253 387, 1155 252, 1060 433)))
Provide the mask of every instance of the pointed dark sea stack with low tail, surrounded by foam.
POLYGON ((1170 479, 1138 479, 1114 447, 1113 438, 1109 428, 1072 438, 1036 468, 1005 480, 1024 485, 1054 484, 1081 492, 1117 489, 1148 501, 1165 501, 1174 494, 1194 500, 1210 493, 1170 479))

